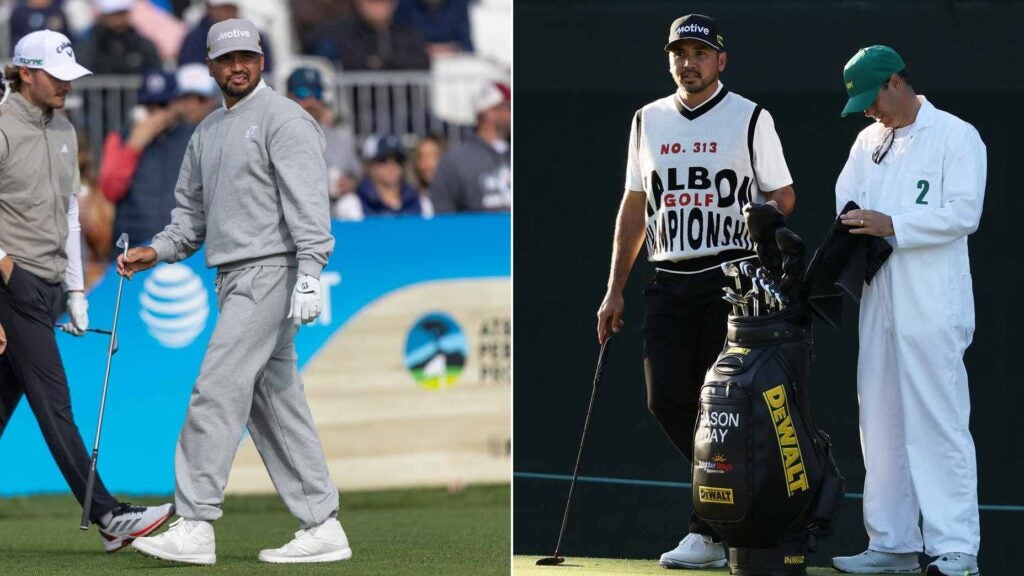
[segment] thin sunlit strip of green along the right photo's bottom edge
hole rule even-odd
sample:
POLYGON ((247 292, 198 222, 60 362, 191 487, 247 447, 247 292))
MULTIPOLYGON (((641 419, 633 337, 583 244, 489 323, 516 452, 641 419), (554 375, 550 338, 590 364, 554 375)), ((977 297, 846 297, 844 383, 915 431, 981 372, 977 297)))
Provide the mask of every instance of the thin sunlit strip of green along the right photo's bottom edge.
MULTIPOLYGON (((512 560, 515 576, 572 576, 598 574, 617 576, 620 574, 651 574, 666 576, 679 573, 681 576, 722 576, 728 568, 717 570, 666 570, 657 565, 657 560, 615 560, 610 558, 566 558, 561 566, 537 566, 539 556, 517 556, 512 560)), ((831 568, 813 567, 807 569, 808 576, 836 576, 839 572, 831 568)))

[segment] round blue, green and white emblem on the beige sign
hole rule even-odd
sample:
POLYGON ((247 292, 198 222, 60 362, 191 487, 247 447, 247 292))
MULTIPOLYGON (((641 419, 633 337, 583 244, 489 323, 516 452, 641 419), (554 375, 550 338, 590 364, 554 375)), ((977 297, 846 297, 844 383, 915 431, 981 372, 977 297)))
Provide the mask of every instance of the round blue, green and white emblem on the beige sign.
POLYGON ((406 368, 427 389, 455 385, 466 366, 469 346, 452 317, 431 313, 420 318, 406 339, 406 368))

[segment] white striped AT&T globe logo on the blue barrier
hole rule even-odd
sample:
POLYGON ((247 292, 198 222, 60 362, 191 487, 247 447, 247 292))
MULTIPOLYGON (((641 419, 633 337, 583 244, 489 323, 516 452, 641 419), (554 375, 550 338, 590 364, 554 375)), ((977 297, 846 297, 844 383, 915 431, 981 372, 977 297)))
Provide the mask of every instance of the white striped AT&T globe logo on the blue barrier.
POLYGON ((161 264, 142 284, 139 316, 150 334, 169 348, 193 343, 210 316, 203 281, 185 264, 161 264))

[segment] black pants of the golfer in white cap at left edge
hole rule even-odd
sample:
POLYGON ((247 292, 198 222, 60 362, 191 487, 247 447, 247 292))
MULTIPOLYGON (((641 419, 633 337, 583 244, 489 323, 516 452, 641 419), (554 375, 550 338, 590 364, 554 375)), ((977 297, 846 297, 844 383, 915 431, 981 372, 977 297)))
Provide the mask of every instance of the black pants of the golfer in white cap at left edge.
MULTIPOLYGON (((25 396, 60 474, 82 504, 90 457, 72 417, 68 378, 53 335, 62 293, 59 284, 47 284, 17 265, 6 285, 0 279, 0 324, 7 333, 7 351, 0 356, 0 435, 25 396)), ((117 505, 97 475, 90 520, 96 522, 117 505)))

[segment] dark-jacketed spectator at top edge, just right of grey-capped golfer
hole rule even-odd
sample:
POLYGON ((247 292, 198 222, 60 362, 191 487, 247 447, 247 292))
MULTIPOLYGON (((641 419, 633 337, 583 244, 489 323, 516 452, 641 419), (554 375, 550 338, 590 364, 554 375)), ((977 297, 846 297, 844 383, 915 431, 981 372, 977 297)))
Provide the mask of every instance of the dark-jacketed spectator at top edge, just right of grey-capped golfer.
POLYGON ((430 68, 423 36, 411 24, 395 22, 397 7, 398 0, 355 0, 355 17, 325 26, 313 53, 342 70, 430 68))

